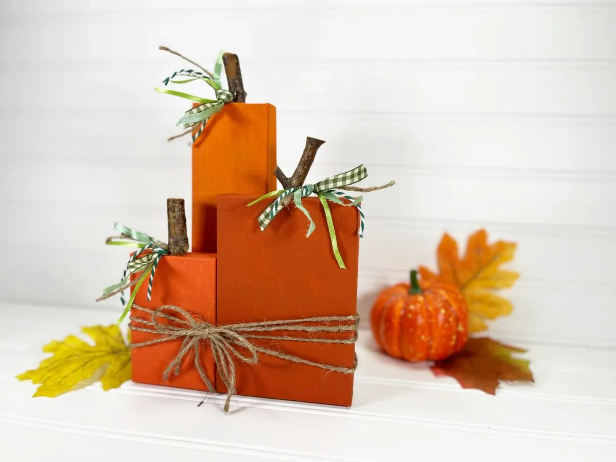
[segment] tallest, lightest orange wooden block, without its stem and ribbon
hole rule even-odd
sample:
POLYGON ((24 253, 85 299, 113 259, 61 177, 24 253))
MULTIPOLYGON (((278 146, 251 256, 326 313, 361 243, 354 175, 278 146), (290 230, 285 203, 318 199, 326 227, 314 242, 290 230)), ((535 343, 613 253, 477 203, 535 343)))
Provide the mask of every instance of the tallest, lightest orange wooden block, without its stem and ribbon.
POLYGON ((275 190, 276 108, 230 103, 214 114, 192 150, 192 251, 216 253, 216 196, 275 190))

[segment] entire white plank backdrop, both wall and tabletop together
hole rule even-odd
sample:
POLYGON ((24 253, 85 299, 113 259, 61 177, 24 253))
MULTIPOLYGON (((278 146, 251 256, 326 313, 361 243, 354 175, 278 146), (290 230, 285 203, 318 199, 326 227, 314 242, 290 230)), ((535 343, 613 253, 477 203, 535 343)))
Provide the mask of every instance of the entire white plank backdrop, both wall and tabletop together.
POLYGON ((0 70, 0 300, 21 303, 0 305, 3 460, 614 460, 616 1, 3 0, 0 70), (327 143, 309 180, 365 163, 366 184, 397 181, 365 201, 364 318, 444 230, 517 241, 516 309, 490 332, 531 348, 537 384, 461 392, 363 333, 351 410, 238 398, 223 416, 136 385, 30 400, 12 376, 45 341, 115 319, 93 306, 126 262, 113 222, 164 238, 164 199, 190 199, 190 148, 165 141, 185 104, 153 91, 182 63, 160 44, 240 55, 283 170, 310 135, 327 143))

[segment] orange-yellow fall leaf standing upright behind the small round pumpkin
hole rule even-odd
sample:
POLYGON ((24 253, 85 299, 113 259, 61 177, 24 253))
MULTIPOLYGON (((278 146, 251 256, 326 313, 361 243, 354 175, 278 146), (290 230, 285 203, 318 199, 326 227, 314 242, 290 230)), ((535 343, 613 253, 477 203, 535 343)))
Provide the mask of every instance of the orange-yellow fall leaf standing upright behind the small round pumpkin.
POLYGON ((466 252, 460 258, 458 243, 445 233, 437 248, 439 274, 419 267, 422 284, 439 281, 455 285, 464 294, 469 307, 469 331, 486 330, 486 319, 495 319, 513 311, 511 303, 494 293, 513 286, 519 274, 500 269, 512 261, 516 251, 513 242, 497 241, 488 244, 485 230, 468 238, 466 252))

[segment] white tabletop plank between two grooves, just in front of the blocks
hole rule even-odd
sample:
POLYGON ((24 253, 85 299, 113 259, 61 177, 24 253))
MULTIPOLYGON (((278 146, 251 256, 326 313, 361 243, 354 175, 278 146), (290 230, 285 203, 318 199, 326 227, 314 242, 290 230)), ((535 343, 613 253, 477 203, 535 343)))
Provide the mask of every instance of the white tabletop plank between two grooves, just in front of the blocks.
MULTIPOLYGON (((554 456, 562 461, 591 457, 593 461, 601 462, 612 460, 614 452, 614 445, 609 440, 592 437, 576 439, 567 435, 557 436, 557 439, 538 439, 530 432, 528 436, 521 437, 499 431, 486 434, 457 426, 442 428, 437 425, 384 422, 384 419, 341 421, 324 412, 300 412, 301 424, 298 424, 297 413, 270 410, 269 405, 251 405, 240 408, 241 412, 232 416, 224 416, 217 411, 221 400, 197 410, 200 398, 196 395, 190 400, 169 400, 147 394, 124 395, 116 392, 99 392, 93 397, 91 391, 84 391, 81 396, 67 395, 62 401, 46 400, 37 406, 34 403, 36 400, 25 396, 18 384, 6 386, 5 393, 13 400, 6 408, 14 412, 4 413, 4 417, 0 414, 0 418, 11 422, 54 426, 63 430, 87 428, 93 434, 114 434, 118 439, 129 441, 139 437, 162 439, 173 446, 184 446, 184 441, 188 440, 192 445, 201 447, 222 446, 234 448, 235 451, 241 448, 244 452, 256 453, 268 460, 374 461, 381 460, 380 457, 394 460, 401 452, 407 451, 409 445, 412 445, 416 456, 426 461, 440 461, 442 457, 459 459, 460 452, 472 452, 472 459, 466 460, 493 460, 493 454, 500 453, 500 460, 513 462, 533 453, 554 456), (17 410, 16 405, 22 403, 24 407, 17 410), (84 414, 81 410, 86 408, 89 412, 84 414), (140 418, 131 419, 127 409, 139 410, 140 418), (301 434, 290 429, 299 429, 301 434), (371 437, 360 437, 363 432, 378 436, 378 444, 374 444, 371 437), (336 437, 323 438, 324 434, 336 437), (442 439, 447 439, 448 444, 440 447, 438 455, 435 455, 434 447, 442 439), (477 452, 477 447, 482 450, 477 452)), ((2 400, 6 399, 3 397, 2 400)), ((436 403, 434 405, 438 407, 436 403)), ((515 410, 509 412, 515 413, 515 410)), ((221 459, 217 457, 217 460, 221 459)))

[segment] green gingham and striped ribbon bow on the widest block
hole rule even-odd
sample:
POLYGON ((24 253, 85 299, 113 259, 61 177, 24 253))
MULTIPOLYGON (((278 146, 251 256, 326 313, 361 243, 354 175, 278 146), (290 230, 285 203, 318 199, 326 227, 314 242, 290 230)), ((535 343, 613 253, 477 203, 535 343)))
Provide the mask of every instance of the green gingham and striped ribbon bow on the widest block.
POLYGON ((336 239, 336 230, 334 229, 334 222, 331 217, 330 206, 328 205, 328 201, 343 205, 346 207, 355 207, 359 211, 360 223, 359 223, 359 237, 363 237, 363 221, 364 214, 362 211, 362 200, 363 197, 352 197, 347 195, 347 193, 338 191, 338 188, 344 188, 346 186, 352 185, 363 180, 368 176, 367 169, 363 166, 357 166, 352 170, 347 172, 328 177, 324 180, 321 180, 315 184, 304 185, 300 188, 289 188, 284 190, 273 191, 267 193, 257 200, 248 204, 248 206, 254 205, 257 202, 260 202, 264 199, 270 197, 276 197, 276 200, 272 202, 265 210, 259 215, 259 227, 261 227, 261 231, 265 230, 267 226, 274 220, 277 214, 282 210, 282 201, 285 197, 293 195, 293 201, 296 207, 302 211, 304 215, 306 215, 309 221, 308 231, 306 233, 306 237, 309 237, 312 232, 315 230, 315 224, 310 216, 310 213, 307 209, 302 205, 302 197, 308 197, 311 194, 316 194, 318 199, 323 206, 323 211, 325 212, 325 220, 327 222, 327 229, 330 233, 331 240, 331 248, 334 252, 334 256, 336 257, 336 261, 338 262, 338 266, 341 269, 346 269, 346 265, 344 265, 344 261, 342 261, 342 256, 338 249, 338 240, 336 239))

